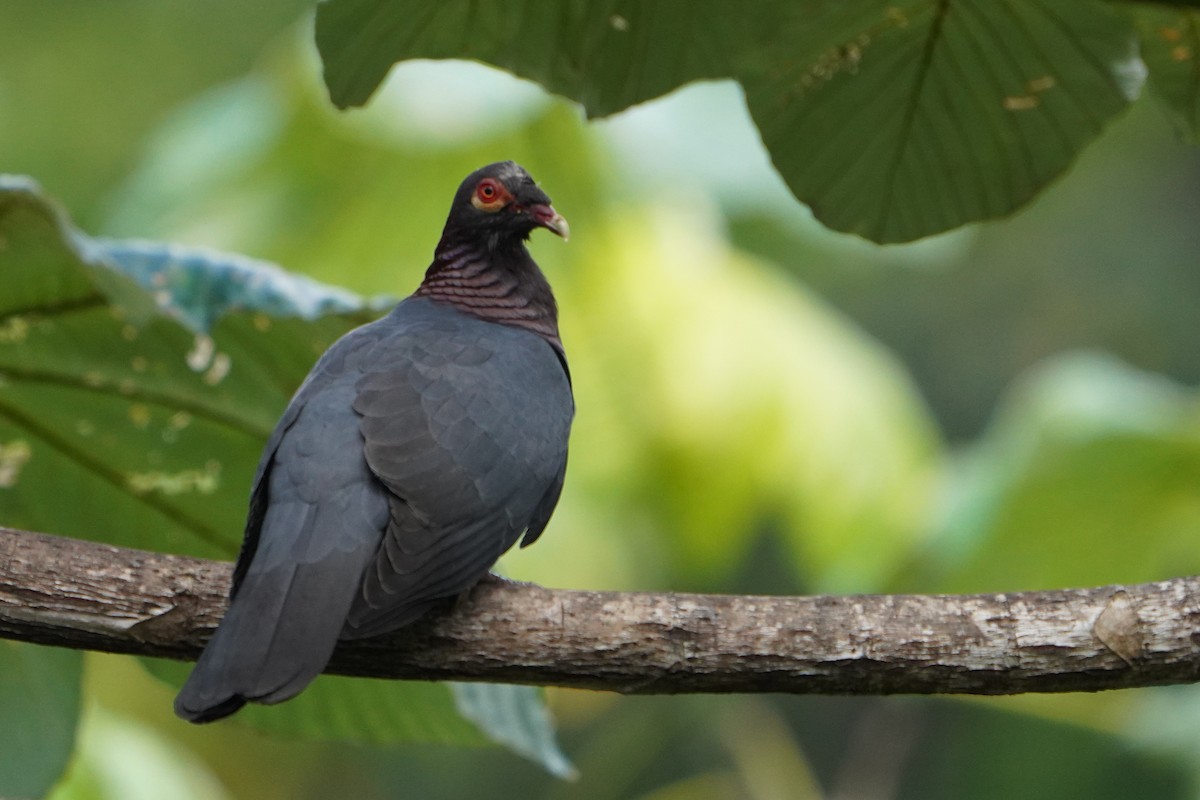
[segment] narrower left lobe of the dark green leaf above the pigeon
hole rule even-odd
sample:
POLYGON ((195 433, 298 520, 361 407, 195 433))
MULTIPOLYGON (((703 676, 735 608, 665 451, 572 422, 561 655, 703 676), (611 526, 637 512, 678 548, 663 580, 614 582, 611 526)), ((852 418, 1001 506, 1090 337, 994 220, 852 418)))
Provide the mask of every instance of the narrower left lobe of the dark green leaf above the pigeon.
POLYGON ((730 40, 748 19, 718 0, 336 0, 317 6, 316 35, 325 84, 342 108, 367 102, 396 61, 478 59, 604 116, 691 80, 731 76, 727 56, 738 48, 730 40))

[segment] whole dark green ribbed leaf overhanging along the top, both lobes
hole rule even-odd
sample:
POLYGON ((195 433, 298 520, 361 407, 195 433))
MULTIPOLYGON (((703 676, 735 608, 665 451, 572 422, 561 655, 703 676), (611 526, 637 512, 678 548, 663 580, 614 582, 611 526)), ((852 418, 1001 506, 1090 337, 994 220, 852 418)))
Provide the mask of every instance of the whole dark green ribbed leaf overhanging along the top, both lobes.
POLYGON ((1010 213, 1126 108, 1145 67, 1091 0, 856 4, 330 0, 325 80, 366 102, 403 59, 494 64, 611 114, 732 77, 772 161, 836 230, 910 241, 1010 213))

